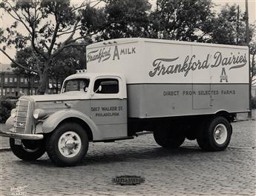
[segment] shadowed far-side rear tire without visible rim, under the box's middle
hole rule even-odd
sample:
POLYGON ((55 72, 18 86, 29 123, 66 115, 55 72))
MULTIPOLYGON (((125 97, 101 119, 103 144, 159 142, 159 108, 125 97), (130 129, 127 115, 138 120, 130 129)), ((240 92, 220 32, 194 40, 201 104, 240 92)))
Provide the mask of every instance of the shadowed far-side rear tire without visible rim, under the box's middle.
POLYGON ((166 126, 160 126, 159 129, 154 131, 153 135, 157 144, 165 149, 176 149, 180 147, 186 139, 185 135, 179 135, 178 130, 177 133, 175 133, 166 126))

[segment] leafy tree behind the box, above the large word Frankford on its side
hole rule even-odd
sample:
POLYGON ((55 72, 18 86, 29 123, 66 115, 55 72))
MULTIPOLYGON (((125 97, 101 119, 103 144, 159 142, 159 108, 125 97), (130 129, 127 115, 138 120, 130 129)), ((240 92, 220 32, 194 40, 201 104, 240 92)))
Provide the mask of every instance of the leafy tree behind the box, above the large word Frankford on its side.
POLYGON ((210 0, 158 0, 151 13, 151 37, 205 41, 213 13, 210 0))

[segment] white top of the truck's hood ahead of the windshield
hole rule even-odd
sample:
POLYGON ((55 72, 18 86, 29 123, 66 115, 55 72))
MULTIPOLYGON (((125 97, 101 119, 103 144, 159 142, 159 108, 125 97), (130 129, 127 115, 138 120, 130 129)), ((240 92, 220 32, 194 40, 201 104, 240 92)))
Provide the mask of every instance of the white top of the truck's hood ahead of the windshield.
POLYGON ((55 95, 30 95, 26 96, 33 98, 34 101, 68 101, 68 100, 82 100, 88 99, 88 93, 85 92, 65 92, 62 94, 55 95))

